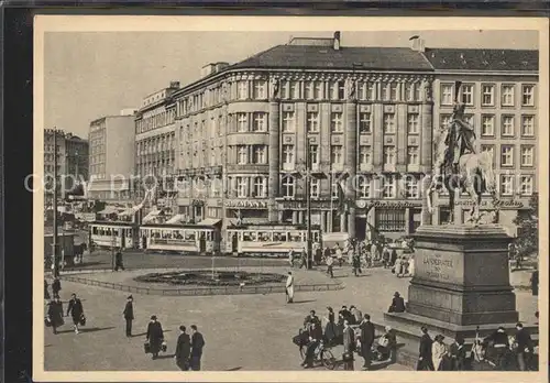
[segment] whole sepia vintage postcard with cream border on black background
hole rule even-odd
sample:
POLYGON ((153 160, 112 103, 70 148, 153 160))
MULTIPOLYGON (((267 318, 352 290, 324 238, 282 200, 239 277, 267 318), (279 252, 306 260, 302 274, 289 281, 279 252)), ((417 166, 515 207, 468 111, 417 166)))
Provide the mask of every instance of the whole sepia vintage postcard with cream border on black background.
POLYGON ((35 381, 546 380, 548 20, 34 25, 35 381))

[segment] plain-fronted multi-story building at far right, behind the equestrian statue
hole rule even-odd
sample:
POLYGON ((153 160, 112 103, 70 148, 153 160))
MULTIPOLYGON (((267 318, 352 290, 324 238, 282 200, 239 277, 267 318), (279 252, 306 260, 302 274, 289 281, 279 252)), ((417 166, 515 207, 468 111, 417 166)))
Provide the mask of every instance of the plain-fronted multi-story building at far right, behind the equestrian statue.
MULTIPOLYGON (((436 132, 449 122, 458 90, 475 129, 477 150, 493 153, 498 221, 515 234, 513 221, 537 185, 538 51, 428 48, 425 55, 436 75, 436 132), (459 89, 455 81, 462 83, 459 89)), ((447 220, 447 204, 448 198, 440 198, 435 222, 447 220)), ((454 216, 465 221, 470 198, 462 196, 455 204, 454 216)), ((491 198, 482 204, 492 207, 491 198)))

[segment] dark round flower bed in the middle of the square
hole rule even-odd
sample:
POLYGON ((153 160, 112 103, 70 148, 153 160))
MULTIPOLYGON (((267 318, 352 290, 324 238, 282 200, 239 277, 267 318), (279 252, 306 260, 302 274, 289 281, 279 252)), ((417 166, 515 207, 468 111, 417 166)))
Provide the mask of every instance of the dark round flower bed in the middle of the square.
POLYGON ((209 270, 197 270, 186 272, 150 273, 134 278, 136 282, 160 283, 182 286, 258 286, 265 284, 279 284, 286 276, 275 273, 249 273, 249 272, 212 272, 209 270))

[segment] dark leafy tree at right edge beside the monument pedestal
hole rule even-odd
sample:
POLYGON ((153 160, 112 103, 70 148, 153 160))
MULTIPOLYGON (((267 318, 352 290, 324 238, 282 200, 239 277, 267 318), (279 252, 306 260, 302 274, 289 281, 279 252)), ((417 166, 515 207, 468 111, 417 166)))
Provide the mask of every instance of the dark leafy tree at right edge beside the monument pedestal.
POLYGON ((514 223, 517 226, 518 236, 516 248, 520 256, 537 253, 539 250, 539 196, 534 194, 529 200, 528 209, 519 211, 514 223))

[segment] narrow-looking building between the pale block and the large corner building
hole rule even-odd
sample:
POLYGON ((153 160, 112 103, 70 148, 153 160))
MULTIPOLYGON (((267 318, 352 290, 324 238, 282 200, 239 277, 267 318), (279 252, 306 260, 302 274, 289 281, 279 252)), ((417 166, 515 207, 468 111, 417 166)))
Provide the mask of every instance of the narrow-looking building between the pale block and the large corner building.
POLYGON ((157 197, 173 194, 173 177, 177 171, 176 105, 173 94, 178 89, 179 83, 172 81, 168 88, 145 97, 135 114, 135 173, 138 179, 143 182, 148 176, 157 179, 157 197), (172 186, 165 190, 168 184, 172 186))

